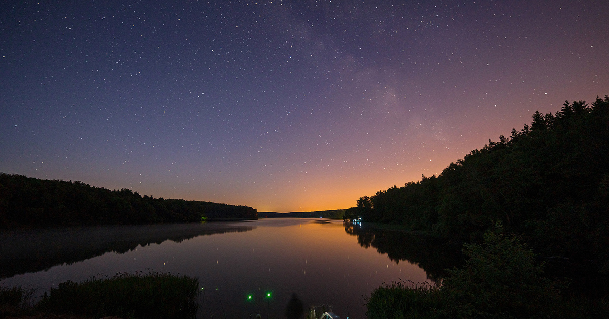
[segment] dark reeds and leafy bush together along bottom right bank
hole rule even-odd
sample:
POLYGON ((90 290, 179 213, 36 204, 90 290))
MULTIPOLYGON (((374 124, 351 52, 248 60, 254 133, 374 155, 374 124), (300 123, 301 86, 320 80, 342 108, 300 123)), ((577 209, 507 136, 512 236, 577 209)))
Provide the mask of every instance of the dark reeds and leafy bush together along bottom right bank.
POLYGON ((543 276, 543 263, 520 237, 499 224, 484 243, 465 245, 462 268, 453 268, 439 287, 393 282, 367 298, 367 317, 376 318, 606 318, 607 299, 561 293, 568 281, 543 276))

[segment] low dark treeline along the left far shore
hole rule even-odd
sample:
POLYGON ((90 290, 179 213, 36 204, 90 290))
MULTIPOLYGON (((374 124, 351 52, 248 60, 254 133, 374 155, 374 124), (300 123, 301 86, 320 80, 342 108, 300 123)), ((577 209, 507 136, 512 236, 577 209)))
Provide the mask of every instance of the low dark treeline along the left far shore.
POLYGON ((205 201, 141 196, 83 182, 0 173, 0 226, 191 223, 206 218, 257 218, 256 209, 205 201))

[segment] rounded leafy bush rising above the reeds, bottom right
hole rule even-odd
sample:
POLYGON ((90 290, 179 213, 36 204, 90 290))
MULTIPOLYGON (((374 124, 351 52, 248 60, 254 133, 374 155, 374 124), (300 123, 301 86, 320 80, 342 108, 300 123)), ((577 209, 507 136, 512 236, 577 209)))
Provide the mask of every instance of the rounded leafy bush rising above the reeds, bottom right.
POLYGON ((560 284, 544 278, 543 263, 502 226, 484 234, 482 245, 465 245, 469 259, 440 288, 446 318, 556 317, 563 304, 560 284))

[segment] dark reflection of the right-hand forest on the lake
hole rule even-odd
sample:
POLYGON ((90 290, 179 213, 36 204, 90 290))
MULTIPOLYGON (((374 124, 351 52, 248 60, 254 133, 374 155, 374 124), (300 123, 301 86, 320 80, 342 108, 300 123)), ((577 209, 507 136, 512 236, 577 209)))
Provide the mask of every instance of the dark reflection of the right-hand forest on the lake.
POLYGON ((396 263, 403 260, 415 263, 434 282, 445 276, 446 268, 458 267, 463 262, 462 245, 449 244, 444 238, 372 228, 365 224, 344 225, 345 232, 357 236, 357 243, 362 247, 376 248, 379 254, 387 254, 396 263))

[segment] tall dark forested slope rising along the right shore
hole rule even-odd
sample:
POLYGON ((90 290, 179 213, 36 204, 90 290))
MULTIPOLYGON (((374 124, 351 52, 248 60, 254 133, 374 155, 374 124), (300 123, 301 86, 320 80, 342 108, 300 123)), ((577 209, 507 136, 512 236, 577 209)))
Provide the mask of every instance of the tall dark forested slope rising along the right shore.
POLYGON ((609 96, 535 112, 531 126, 489 140, 439 176, 361 197, 345 212, 353 217, 462 242, 479 242, 499 221, 543 257, 595 260, 607 273, 609 96))

